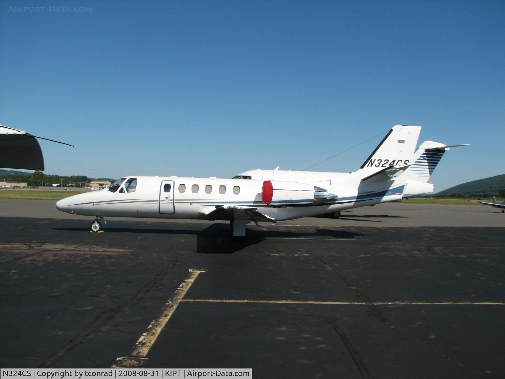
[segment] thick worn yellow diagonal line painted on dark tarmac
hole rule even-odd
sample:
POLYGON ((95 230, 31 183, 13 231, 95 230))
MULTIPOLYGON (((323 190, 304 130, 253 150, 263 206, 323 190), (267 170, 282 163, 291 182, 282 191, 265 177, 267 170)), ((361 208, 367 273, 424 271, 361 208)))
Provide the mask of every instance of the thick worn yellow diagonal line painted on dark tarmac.
POLYGON ((150 348, 153 347, 153 344, 160 335, 162 329, 165 327, 166 323, 177 309, 177 306, 183 300, 184 295, 186 295, 186 292, 188 292, 196 277, 200 274, 200 272, 204 272, 205 270, 189 271, 189 276, 180 284, 177 290, 175 290, 172 297, 167 301, 161 311, 160 316, 150 323, 150 325, 147 327, 147 331, 139 338, 135 344, 135 349, 130 356, 145 357, 147 355, 150 348))

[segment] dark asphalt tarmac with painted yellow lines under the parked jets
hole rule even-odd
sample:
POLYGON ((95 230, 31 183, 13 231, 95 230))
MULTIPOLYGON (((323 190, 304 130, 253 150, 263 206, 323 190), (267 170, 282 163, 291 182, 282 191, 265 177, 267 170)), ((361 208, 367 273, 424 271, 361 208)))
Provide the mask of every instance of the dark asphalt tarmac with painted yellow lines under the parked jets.
POLYGON ((140 344, 153 368, 505 377, 505 215, 491 207, 384 204, 251 224, 245 240, 175 220, 90 233, 52 201, 0 200, 0 216, 1 367, 111 367, 156 320, 140 344))

